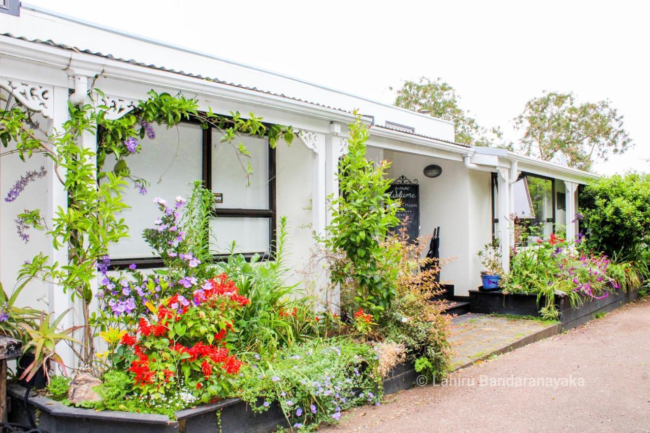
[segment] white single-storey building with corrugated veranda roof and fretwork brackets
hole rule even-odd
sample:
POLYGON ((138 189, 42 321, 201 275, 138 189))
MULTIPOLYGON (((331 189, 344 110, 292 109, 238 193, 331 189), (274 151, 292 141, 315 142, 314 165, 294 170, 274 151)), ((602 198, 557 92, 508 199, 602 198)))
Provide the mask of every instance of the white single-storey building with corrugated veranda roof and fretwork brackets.
MULTIPOLYGON (((94 85, 107 95, 106 103, 114 107, 115 117, 130 111, 138 99, 146 99, 153 88, 196 97, 201 109, 211 107, 220 114, 253 112, 265 122, 292 125, 300 131, 300 139, 292 146, 279 143, 275 151, 265 140, 244 138, 252 150, 255 172, 252 187, 247 189, 233 153, 220 146, 218 136, 211 140, 211 133, 203 134, 194 124, 158 129, 158 137, 129 162, 133 172, 152 185, 145 198, 135 189, 127 193, 131 209, 124 217, 132 237, 110 252, 114 263, 121 265, 158 264, 139 236, 153 222, 151 199, 187 194, 192 179, 210 179, 214 192, 223 194, 219 217, 214 220, 217 252, 223 252, 232 240, 242 252, 268 252, 273 224, 285 215, 291 225, 292 265, 296 270, 304 267, 314 243, 311 230, 322 232, 328 223, 326 197, 337 193, 337 160, 345 148, 353 109, 372 124, 369 157, 391 161, 393 178, 419 181, 419 233, 431 235, 434 228, 441 228, 441 257, 456 257, 441 277, 455 286, 456 295, 467 295, 480 285, 476 251, 491 241, 493 232, 501 240, 507 269, 510 224, 496 220, 523 213, 543 222, 547 232, 557 224, 566 226, 567 236, 575 235, 577 185, 594 177, 505 150, 456 144, 450 122, 280 73, 29 5, 22 5, 19 16, 0 13, 0 88, 37 111, 45 129, 67 120, 70 95, 86 92, 96 75, 94 85), (442 169, 438 177, 424 176, 423 169, 430 164, 442 169), (541 191, 532 211, 525 181, 516 182, 522 174, 541 191)), ((354 79, 359 77, 351 75, 350 80, 354 79)), ((93 146, 93 139, 85 137, 83 145, 93 146)), ((41 165, 48 168, 48 164, 42 155, 27 163, 18 161, 16 155, 0 158, 0 193, 6 196, 25 171, 41 165)), ((1 202, 0 279, 6 289, 15 282, 19 265, 39 251, 66 261, 66 252, 53 250, 43 233, 31 233, 31 241, 23 243, 16 234, 16 214, 40 207, 51 217, 57 207, 65 205, 66 197, 51 167, 47 177, 29 185, 18 200, 1 202)), ((39 305, 43 308, 47 303, 53 311, 70 305, 68 295, 44 283, 33 283, 23 299, 32 306, 43 303, 39 305)))

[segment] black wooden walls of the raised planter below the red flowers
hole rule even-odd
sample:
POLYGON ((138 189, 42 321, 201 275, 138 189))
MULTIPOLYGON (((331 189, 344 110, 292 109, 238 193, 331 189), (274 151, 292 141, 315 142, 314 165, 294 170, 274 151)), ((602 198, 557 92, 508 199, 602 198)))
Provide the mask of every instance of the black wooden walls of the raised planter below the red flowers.
MULTIPOLYGON (((386 394, 413 387, 417 373, 412 364, 400 364, 383 381, 386 394)), ((29 425, 25 413, 25 388, 18 384, 8 386, 11 398, 9 421, 29 425)), ((152 413, 96 411, 72 408, 32 393, 27 400, 38 427, 49 433, 214 433, 214 432, 272 432, 287 421, 277 404, 266 412, 255 413, 240 399, 227 399, 202 404, 193 409, 179 410, 176 420, 152 413)))

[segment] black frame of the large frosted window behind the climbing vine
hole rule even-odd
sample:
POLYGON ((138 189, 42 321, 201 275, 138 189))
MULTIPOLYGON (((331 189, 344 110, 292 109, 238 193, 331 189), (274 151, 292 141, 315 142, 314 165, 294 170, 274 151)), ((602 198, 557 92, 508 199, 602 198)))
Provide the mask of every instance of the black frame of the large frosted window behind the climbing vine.
MULTIPOLYGON (((196 119, 181 120, 181 123, 201 125, 201 122, 196 119)), ((267 130, 271 124, 266 124, 267 130)), ((214 128, 212 125, 207 125, 203 129, 202 135, 202 148, 201 148, 201 171, 202 181, 205 188, 212 191, 212 135, 214 128)), ((218 130, 218 129, 216 129, 218 130)), ((254 137, 254 136, 251 136, 254 137)), ((264 137, 268 137, 265 134, 264 137)), ((268 219, 268 251, 266 252, 250 252, 242 254, 246 261, 250 261, 253 256, 259 255, 262 259, 270 259, 275 256, 277 250, 277 233, 276 226, 278 223, 278 208, 276 203, 276 149, 268 145, 268 209, 240 209, 240 208, 226 208, 218 207, 213 211, 213 217, 228 217, 228 218, 267 218, 268 219)), ((214 191, 213 191, 214 192, 214 191)), ((213 257, 217 261, 226 261, 229 254, 214 254, 213 257)), ((129 265, 135 263, 138 269, 155 269, 164 267, 164 262, 160 257, 127 257, 120 259, 111 259, 111 269, 124 270, 128 269, 129 265)))

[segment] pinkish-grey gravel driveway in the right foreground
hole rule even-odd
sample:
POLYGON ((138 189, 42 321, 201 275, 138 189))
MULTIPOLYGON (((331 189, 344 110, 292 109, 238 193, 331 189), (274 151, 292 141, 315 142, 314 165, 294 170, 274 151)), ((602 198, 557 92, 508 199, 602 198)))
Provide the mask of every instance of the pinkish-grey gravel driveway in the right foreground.
POLYGON ((650 432, 650 300, 452 374, 338 432, 650 432))

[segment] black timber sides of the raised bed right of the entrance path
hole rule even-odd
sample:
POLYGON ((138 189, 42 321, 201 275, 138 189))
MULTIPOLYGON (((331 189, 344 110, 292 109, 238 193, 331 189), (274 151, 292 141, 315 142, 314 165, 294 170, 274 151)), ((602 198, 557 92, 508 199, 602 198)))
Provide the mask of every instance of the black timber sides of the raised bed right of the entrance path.
MULTIPOLYGON (((585 298, 576 308, 571 307, 569 298, 555 295, 555 306, 560 313, 559 321, 562 330, 568 330, 590 321, 597 313, 606 313, 636 300, 638 290, 624 292, 621 289, 612 291, 603 299, 585 298)), ((470 290, 470 311, 472 313, 497 313, 513 315, 530 315, 539 317, 539 305, 545 305, 545 298, 539 299, 537 295, 524 295, 522 293, 504 294, 501 291, 484 292, 470 290)))

